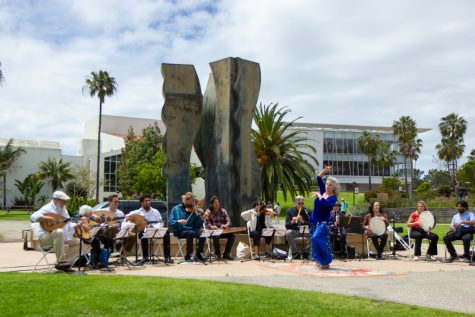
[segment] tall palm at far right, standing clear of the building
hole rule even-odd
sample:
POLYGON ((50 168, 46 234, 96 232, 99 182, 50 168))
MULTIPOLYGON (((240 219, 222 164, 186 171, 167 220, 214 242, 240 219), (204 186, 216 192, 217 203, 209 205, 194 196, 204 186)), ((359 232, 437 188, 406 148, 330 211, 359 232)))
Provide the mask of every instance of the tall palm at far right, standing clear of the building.
POLYGON ((458 114, 451 113, 441 118, 439 123, 441 142, 437 144, 437 155, 447 165, 452 189, 457 186, 456 171, 458 169, 458 159, 462 157, 465 150, 463 137, 467 131, 467 121, 458 114))

